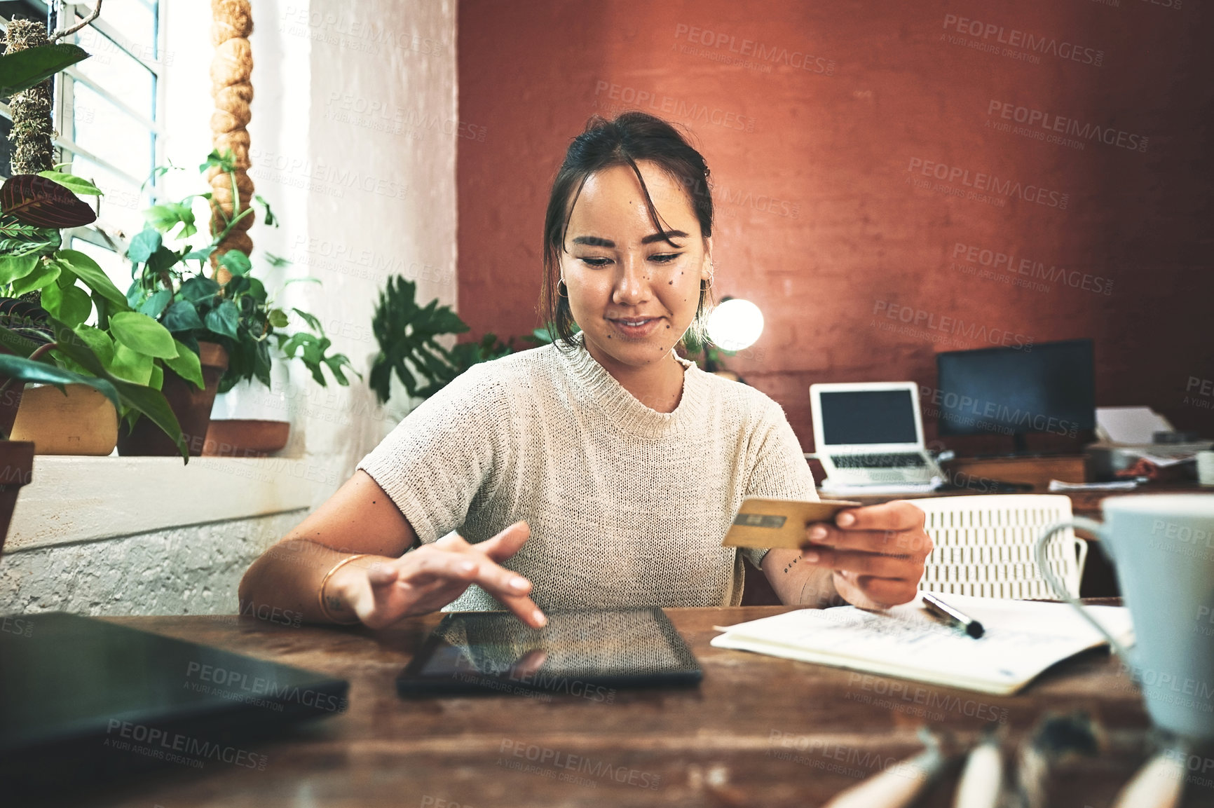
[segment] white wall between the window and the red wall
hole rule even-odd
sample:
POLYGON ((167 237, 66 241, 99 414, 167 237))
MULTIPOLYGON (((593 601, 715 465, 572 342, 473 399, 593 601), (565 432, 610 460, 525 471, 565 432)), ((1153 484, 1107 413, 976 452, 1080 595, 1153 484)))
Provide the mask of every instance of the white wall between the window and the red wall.
MULTIPOLYGON (((166 5, 174 46, 182 32, 197 33, 178 49, 166 103, 168 153, 192 166, 210 149, 209 8, 166 5)), ((268 251, 294 262, 287 277, 319 280, 285 286, 280 300, 318 315, 334 351, 365 379, 378 351, 371 313, 387 277, 416 280, 419 301, 455 305, 455 4, 259 0, 253 8, 250 175, 282 220, 251 232, 256 271, 271 291, 282 288, 283 273, 260 260, 268 251)), ((279 396, 254 383, 217 412, 274 417, 277 408, 289 416, 284 454, 305 463, 318 503, 408 402, 393 398, 385 411, 365 382, 322 388, 299 363, 288 368, 279 396)))

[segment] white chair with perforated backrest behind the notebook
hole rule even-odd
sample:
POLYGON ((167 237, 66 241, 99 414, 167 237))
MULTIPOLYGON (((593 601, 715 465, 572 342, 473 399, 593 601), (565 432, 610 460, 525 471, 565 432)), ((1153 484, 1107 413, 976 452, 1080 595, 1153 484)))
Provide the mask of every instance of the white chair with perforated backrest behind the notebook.
MULTIPOLYGON (((1033 563, 1033 547, 1046 527, 1071 519, 1070 497, 1057 494, 940 496, 910 500, 927 514, 935 548, 919 588, 989 598, 1056 599, 1033 563)), ((1071 529, 1048 550, 1050 569, 1071 594, 1088 559, 1088 542, 1071 529)))

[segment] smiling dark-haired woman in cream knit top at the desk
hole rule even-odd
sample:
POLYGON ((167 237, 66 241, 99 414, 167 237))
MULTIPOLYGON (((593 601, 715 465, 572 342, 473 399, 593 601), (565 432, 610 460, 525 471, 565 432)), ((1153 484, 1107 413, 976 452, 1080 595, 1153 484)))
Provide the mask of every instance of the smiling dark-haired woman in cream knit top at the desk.
MULTIPOLYGON (((742 558, 721 539, 743 499, 817 495, 779 405, 674 351, 711 306, 708 176, 665 121, 591 119, 544 222, 556 341, 410 412, 249 568, 242 611, 380 627, 505 605, 538 627, 540 607, 739 603, 742 558)), ((742 552, 785 603, 890 605, 915 594, 923 524, 890 502, 807 527, 804 552, 742 552)))

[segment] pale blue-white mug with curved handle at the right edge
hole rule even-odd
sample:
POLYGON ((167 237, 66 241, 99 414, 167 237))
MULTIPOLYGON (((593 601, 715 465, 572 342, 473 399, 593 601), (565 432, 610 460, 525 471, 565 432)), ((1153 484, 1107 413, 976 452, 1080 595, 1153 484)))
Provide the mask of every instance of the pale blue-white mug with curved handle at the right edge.
POLYGON ((1104 524, 1077 517, 1037 540, 1037 565, 1060 598, 1079 610, 1135 675, 1156 726, 1214 739, 1214 494, 1113 496, 1104 524), (1135 644, 1122 647, 1050 570, 1045 547, 1066 528, 1100 539, 1117 565, 1135 644))

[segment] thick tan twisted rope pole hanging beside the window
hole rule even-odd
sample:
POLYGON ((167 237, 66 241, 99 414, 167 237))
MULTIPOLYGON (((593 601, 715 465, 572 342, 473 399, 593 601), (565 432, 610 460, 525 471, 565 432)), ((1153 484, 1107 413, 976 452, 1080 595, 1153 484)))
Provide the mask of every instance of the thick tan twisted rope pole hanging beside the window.
MULTIPOLYGON (((231 150, 236 158, 236 189, 239 194, 239 210, 248 210, 253 200, 253 180, 249 178, 249 120, 253 102, 253 47, 249 34, 253 33, 253 12, 249 0, 211 0, 211 44, 215 45, 215 57, 211 59, 211 96, 215 98, 215 112, 211 114, 211 144, 222 154, 231 150)), ((211 233, 223 232, 233 216, 232 182, 233 175, 211 166, 206 171, 211 183, 211 233)), ((219 258, 229 250, 240 250, 245 255, 253 251, 253 239, 249 228, 255 216, 245 216, 211 255, 214 277, 220 283, 227 283, 231 274, 220 266, 219 258)))

